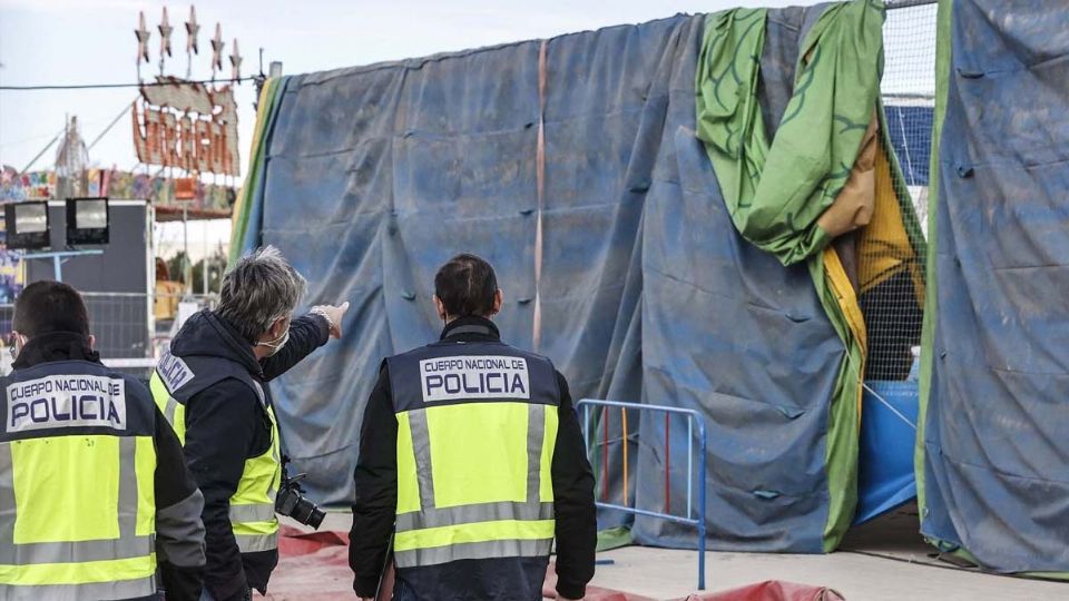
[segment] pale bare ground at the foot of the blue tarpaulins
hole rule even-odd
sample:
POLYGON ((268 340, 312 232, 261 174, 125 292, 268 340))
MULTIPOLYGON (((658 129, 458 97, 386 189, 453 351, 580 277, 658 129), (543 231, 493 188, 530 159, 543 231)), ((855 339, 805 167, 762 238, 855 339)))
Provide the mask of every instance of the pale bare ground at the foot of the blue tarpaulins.
MULTIPOLYGON (((332 513, 322 530, 347 532, 351 523, 349 514, 332 513)), ((706 589, 790 580, 835 589, 850 601, 1069 600, 1069 583, 984 574, 940 561, 918 534, 912 508, 854 529, 841 549, 826 555, 707 553, 706 589)), ((598 559, 611 560, 598 565, 591 582, 598 587, 666 600, 697 589, 694 551, 628 546, 598 559)))

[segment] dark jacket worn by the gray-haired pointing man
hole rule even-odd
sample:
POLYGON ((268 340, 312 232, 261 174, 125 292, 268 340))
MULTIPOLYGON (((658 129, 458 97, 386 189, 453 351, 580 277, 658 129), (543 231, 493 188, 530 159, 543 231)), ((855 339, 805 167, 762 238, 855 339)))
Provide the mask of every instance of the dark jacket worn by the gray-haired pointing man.
MULTIPOLYGON (((268 382, 288 371, 326 343, 328 326, 318 315, 306 315, 290 325, 290 341, 274 356, 256 361, 252 345, 237 329, 213 312, 189 317, 170 343, 178 357, 202 356, 237 363, 253 378, 268 382)), ((271 390, 264 386, 267 403, 271 390)), ((186 402, 186 461, 204 493, 207 530, 207 569, 204 583, 225 601, 245 587, 267 591, 278 552, 242 553, 231 528, 231 496, 237 491, 245 460, 271 447, 271 425, 256 394, 238 380, 228 378, 193 395, 186 402)))

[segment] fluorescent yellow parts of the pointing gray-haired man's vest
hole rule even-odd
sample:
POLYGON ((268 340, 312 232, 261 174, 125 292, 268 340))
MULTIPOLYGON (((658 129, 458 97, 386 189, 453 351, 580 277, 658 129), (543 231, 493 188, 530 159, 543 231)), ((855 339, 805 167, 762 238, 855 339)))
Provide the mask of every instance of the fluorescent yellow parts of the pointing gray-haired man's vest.
MULTIPOLYGON (((187 366, 183 366, 188 371, 187 366)), ((185 382, 188 383, 189 380, 185 382)), ((274 410, 266 404, 266 395, 259 383, 255 380, 252 383, 271 418, 271 446, 263 454, 245 460, 242 480, 237 484, 237 491, 231 496, 231 528, 243 553, 269 551, 278 546, 278 519, 275 516, 275 494, 282 479, 278 425, 274 410)), ((185 444, 186 406, 170 395, 158 368, 153 372, 149 387, 156 406, 170 423, 178 440, 185 444)))

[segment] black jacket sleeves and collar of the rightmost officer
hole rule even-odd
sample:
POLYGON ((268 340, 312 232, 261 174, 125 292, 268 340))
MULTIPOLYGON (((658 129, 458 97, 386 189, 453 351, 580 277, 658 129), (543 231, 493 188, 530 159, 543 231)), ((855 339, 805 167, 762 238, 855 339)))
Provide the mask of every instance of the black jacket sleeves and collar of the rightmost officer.
MULTIPOLYGON (((463 317, 450 323, 442 332, 441 339, 483 342, 499 341, 500 336, 493 322, 481 317, 463 317), (458 327, 471 324, 489 326, 493 334, 452 334, 458 327)), ((587 461, 568 383, 559 372, 557 383, 560 387, 560 415, 551 466, 557 520, 557 591, 569 599, 579 599, 585 593, 587 582, 594 578, 597 545, 594 474, 587 461)), ((383 362, 360 426, 360 459, 354 473, 356 499, 353 503, 349 563, 355 573, 353 590, 360 597, 374 597, 393 533, 398 503, 398 421, 393 413, 392 394, 390 374, 383 362)), ((468 568, 478 566, 472 564, 468 568)), ((472 573, 463 569, 458 572, 472 573)), ((463 575, 460 575, 463 581, 463 575)), ((471 591, 471 594, 472 599, 488 598, 479 591, 471 591)))

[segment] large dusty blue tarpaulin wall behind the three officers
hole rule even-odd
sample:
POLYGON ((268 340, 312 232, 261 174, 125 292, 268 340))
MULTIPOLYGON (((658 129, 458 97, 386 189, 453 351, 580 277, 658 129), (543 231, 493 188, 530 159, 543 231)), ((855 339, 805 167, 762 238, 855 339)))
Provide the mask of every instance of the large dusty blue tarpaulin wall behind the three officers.
MULTIPOLYGON (((800 35, 821 10, 769 11, 764 110, 783 114, 800 35)), ((713 548, 822 551, 830 497, 852 508, 853 490, 830 491, 825 473, 856 460, 826 446, 844 346, 806 268, 784 267, 732 225, 694 134, 703 24, 679 16, 553 38, 545 70, 542 43, 529 41, 279 86, 245 242, 282 248, 310 303, 353 303, 343 341, 276 384, 313 497, 352 495, 379 362, 437 338, 434 270, 474 252, 498 270, 506 341, 548 355, 575 398, 706 416, 713 548)), ((673 430, 674 449, 685 436, 673 430)), ((619 433, 610 444, 618 456, 619 433)), ((631 501, 663 508, 664 457, 629 444, 631 501)), ((683 511, 678 469, 670 495, 683 511)), ((645 518, 634 532, 694 544, 692 530, 645 518)))

